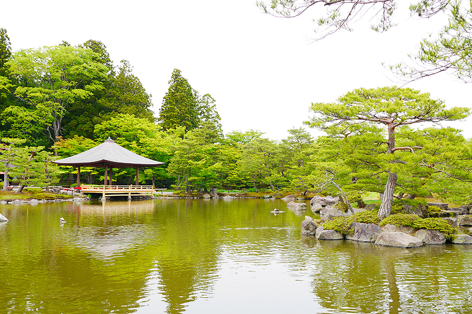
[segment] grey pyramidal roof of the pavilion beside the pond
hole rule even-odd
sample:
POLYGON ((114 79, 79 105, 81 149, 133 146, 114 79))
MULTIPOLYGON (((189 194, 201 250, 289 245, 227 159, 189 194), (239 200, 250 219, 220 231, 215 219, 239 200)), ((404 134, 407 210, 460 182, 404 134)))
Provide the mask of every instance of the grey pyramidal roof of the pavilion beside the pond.
POLYGON ((90 148, 83 153, 54 161, 65 166, 88 167, 157 167, 164 162, 142 157, 115 143, 110 137, 100 145, 90 148))

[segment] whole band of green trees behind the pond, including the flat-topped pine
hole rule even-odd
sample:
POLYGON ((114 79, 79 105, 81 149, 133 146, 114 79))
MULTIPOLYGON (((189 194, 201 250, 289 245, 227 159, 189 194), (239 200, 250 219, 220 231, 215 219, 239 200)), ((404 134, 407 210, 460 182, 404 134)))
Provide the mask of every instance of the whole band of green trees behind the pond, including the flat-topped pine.
MULTIPOLYGON (((12 52, 0 29, 0 170, 22 165, 11 171, 24 182, 73 181, 74 169, 48 166, 51 155, 72 156, 111 137, 166 163, 145 169, 142 183, 187 192, 312 191, 341 195, 348 204, 378 192, 382 216, 394 199, 472 199, 471 141, 439 125, 466 118, 469 109, 447 109, 428 93, 396 86, 355 89, 333 103, 312 104, 305 123, 325 136, 314 139, 294 128, 281 141, 254 130, 223 134, 215 100, 194 90, 177 69, 157 117, 150 107, 130 63, 115 66, 103 43, 12 52)), ((86 183, 103 182, 102 169, 81 173, 86 183)), ((113 173, 119 184, 135 180, 132 169, 113 173)))

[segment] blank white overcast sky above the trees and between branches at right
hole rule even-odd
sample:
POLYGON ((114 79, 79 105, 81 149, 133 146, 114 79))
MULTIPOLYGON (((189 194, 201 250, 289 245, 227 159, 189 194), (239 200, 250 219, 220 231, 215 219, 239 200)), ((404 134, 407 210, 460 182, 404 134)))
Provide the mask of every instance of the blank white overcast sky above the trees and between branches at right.
MULTIPOLYGON (((13 51, 99 40, 116 65, 131 62, 156 116, 177 68, 201 95, 216 100, 225 133, 253 129, 275 140, 302 126, 312 102, 333 102, 358 87, 398 85, 382 62, 408 60, 420 39, 444 24, 444 17, 418 21, 403 14, 383 34, 358 27, 310 43, 315 10, 275 18, 255 0, 22 0, 6 1, 1 9, 0 27, 13 51)), ((451 75, 407 86, 448 107, 471 107, 471 86, 451 75)), ((471 121, 453 126, 470 138, 471 121)))

